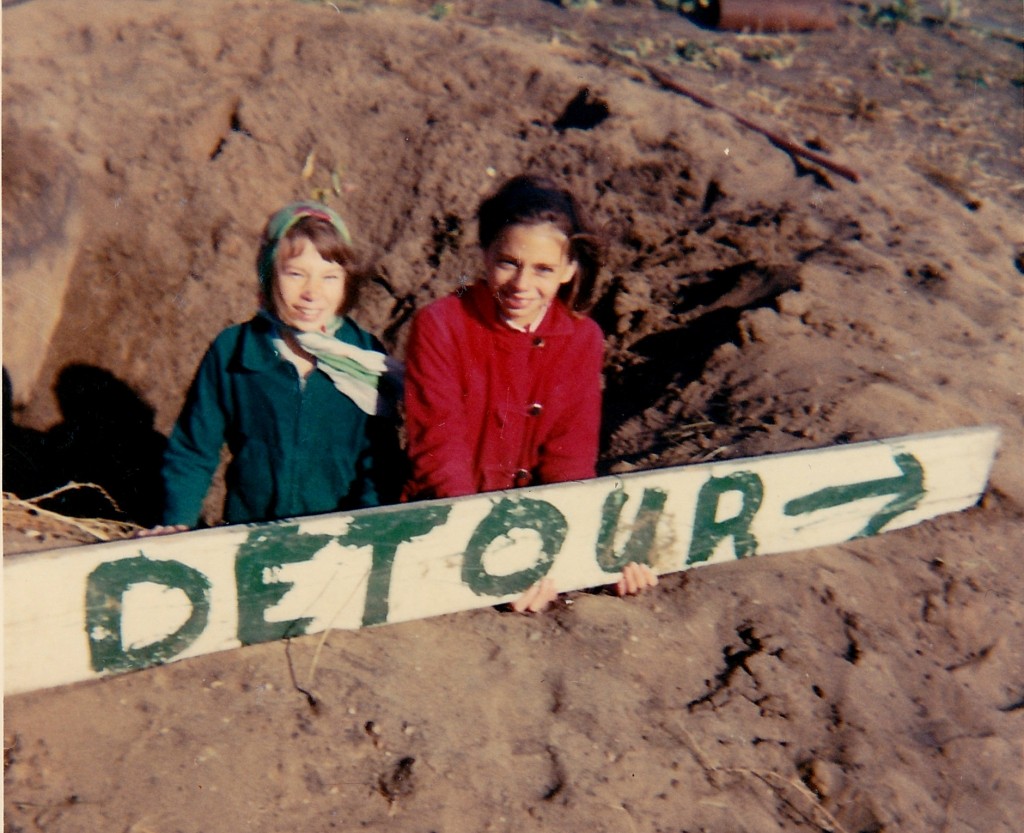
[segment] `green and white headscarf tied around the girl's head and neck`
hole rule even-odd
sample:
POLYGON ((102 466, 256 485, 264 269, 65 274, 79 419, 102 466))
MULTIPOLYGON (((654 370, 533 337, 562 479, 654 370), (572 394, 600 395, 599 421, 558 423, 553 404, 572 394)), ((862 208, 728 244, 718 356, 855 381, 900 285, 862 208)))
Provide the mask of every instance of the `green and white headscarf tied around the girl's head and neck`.
MULTIPOLYGON (((316 217, 330 222, 346 245, 352 243, 344 220, 322 203, 306 200, 282 208, 267 222, 266 244, 256 264, 260 286, 268 301, 272 297, 270 289, 278 244, 303 217, 316 217)), ((367 350, 335 338, 335 333, 344 324, 343 319, 335 317, 326 333, 307 333, 285 324, 271 309, 264 309, 261 315, 280 333, 290 332, 302 349, 316 359, 316 369, 327 374, 334 386, 355 403, 359 410, 373 416, 395 415, 398 400, 401 399, 404 368, 400 362, 383 352, 367 350)))

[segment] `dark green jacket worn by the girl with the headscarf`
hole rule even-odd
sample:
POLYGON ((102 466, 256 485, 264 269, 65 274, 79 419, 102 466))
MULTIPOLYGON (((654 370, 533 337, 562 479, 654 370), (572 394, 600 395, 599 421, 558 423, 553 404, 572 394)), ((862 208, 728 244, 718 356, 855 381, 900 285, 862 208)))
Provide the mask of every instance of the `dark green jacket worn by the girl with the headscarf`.
MULTIPOLYGON (((262 318, 229 327, 196 374, 164 455, 164 524, 196 526, 226 443, 224 520, 376 506, 399 484, 394 425, 360 411, 324 373, 301 384, 262 318)), ((350 319, 336 337, 383 351, 350 319)))

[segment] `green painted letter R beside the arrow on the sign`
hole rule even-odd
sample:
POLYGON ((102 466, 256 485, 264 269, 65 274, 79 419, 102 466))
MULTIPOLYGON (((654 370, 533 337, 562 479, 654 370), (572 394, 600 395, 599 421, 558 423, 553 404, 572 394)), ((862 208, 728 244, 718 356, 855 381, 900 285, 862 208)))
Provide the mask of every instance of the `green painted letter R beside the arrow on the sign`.
POLYGON ((761 507, 765 488, 753 471, 737 471, 724 477, 711 477, 700 487, 697 508, 693 517, 693 539, 686 564, 707 561, 724 538, 732 538, 737 558, 754 555, 758 541, 751 534, 751 522, 761 507), (718 504, 726 492, 738 492, 741 499, 739 512, 723 520, 718 517, 718 504))

